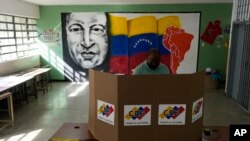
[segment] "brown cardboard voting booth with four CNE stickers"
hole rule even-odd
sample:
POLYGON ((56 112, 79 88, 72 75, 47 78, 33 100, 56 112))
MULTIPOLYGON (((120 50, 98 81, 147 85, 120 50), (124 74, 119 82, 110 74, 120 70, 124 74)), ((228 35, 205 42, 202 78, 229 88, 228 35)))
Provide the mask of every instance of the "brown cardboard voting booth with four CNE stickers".
POLYGON ((89 76, 88 129, 99 141, 201 139, 204 73, 89 76))

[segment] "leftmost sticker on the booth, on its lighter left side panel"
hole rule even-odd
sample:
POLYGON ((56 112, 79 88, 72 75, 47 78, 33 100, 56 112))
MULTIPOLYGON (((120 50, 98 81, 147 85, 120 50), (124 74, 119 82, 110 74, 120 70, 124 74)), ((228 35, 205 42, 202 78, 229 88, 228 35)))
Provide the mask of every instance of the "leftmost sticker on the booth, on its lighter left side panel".
POLYGON ((97 119, 108 124, 115 125, 115 106, 113 104, 97 100, 97 119))

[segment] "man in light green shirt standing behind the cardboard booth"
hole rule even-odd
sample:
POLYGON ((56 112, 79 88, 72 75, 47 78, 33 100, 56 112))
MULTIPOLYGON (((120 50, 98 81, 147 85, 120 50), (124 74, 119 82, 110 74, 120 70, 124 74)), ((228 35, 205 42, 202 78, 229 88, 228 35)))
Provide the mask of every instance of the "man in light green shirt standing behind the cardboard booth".
POLYGON ((133 75, 140 74, 170 74, 168 67, 160 63, 161 54, 153 48, 150 50, 147 60, 139 64, 133 72, 133 75))

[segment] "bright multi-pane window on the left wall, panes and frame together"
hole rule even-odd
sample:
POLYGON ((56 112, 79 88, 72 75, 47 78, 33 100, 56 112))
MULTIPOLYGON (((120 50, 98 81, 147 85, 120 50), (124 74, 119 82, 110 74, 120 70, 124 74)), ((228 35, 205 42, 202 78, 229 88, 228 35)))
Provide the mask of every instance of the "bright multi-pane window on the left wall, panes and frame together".
POLYGON ((36 19, 0 14, 0 62, 37 52, 36 19))

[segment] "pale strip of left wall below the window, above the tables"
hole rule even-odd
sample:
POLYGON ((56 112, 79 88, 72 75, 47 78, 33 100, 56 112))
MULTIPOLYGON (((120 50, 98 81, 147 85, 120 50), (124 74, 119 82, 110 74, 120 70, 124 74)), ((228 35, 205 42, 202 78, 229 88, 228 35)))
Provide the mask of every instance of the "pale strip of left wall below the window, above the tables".
POLYGON ((16 60, 1 62, 0 76, 20 72, 37 66, 40 66, 40 55, 27 56, 16 60))

